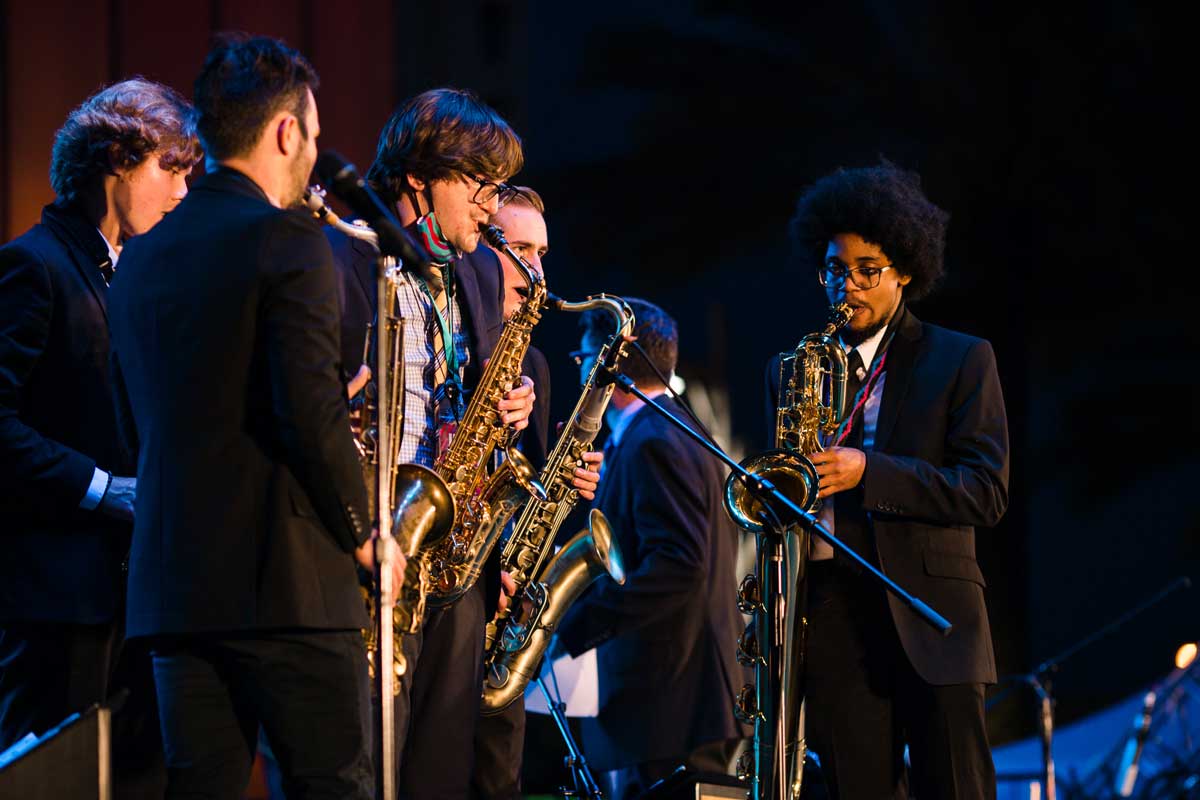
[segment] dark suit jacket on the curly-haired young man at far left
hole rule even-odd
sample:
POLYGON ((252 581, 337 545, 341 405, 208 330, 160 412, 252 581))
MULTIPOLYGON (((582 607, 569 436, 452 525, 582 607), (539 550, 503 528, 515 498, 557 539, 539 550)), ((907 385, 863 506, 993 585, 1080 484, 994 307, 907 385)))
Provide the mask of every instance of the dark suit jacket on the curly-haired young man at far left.
POLYGON ((108 368, 108 247, 77 209, 0 248, 0 620, 113 618, 131 527, 82 511, 96 467, 128 476, 108 368))

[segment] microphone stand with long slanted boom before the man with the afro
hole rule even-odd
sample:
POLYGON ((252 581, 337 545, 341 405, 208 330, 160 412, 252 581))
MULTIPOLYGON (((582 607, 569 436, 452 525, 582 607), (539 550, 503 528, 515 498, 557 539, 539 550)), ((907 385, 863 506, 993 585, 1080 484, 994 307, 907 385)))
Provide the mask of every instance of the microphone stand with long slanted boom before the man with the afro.
MULTIPOLYGON (((770 540, 770 583, 774 585, 769 588, 763 587, 762 601, 766 603, 768 625, 770 628, 766 646, 767 652, 764 654, 767 664, 769 664, 768 674, 770 676, 770 685, 767 691, 761 692, 760 696, 766 696, 769 698, 769 703, 773 705, 778 704, 778 708, 774 709, 775 742, 770 765, 770 781, 773 787, 770 792, 764 793, 761 796, 773 796, 778 798, 778 800, 786 800, 788 796, 786 768, 787 759, 785 758, 784 750, 786 747, 785 694, 787 690, 784 680, 782 657, 787 625, 787 596, 786 590, 784 589, 786 578, 786 570, 784 565, 784 534, 786 529, 794 523, 804 525, 806 529, 824 540, 835 553, 856 564, 876 585, 882 587, 886 591, 900 600, 900 602, 912 609, 926 625, 930 625, 941 632, 942 636, 947 636, 950 632, 950 622, 924 602, 905 591, 894 581, 892 581, 892 578, 883 575, 874 565, 866 561, 866 559, 854 552, 853 548, 834 536, 834 534, 828 528, 822 525, 814 515, 798 506, 791 498, 775 488, 774 483, 769 480, 748 471, 742 467, 742 464, 733 461, 733 458, 731 458, 724 450, 709 441, 707 437, 697 433, 679 417, 655 403, 650 397, 642 392, 642 390, 640 390, 628 375, 623 375, 611 368, 605 368, 601 369, 598 383, 601 385, 606 383, 616 384, 623 392, 637 397, 640 401, 646 403, 646 405, 650 407, 655 414, 685 433, 694 441, 698 443, 702 447, 704 447, 704 450, 710 452, 726 467, 733 470, 742 480, 743 485, 750 491, 751 494, 755 495, 764 509, 762 515, 762 522, 764 523, 763 535, 770 540)), ((756 714, 762 715, 763 709, 760 706, 756 709, 756 714)), ((756 782, 757 780, 761 778, 756 778, 756 782)), ((754 796, 760 796, 757 789, 755 789, 754 796)))

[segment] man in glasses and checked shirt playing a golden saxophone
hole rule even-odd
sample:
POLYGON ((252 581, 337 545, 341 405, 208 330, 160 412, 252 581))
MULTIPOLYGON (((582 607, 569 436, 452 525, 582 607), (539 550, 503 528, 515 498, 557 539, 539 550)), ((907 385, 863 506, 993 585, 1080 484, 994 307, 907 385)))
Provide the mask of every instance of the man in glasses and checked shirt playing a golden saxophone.
MULTIPOLYGON (((434 463, 496 348, 504 324, 500 265, 492 251, 479 247, 480 225, 512 198, 515 190, 504 181, 522 163, 517 134, 468 91, 418 95, 396 109, 380 133, 367 181, 437 266, 432 282, 404 270, 396 291, 406 320, 402 463, 434 463)), ((342 273, 342 353, 349 377, 361 365, 374 317, 377 252, 338 231, 328 235, 342 273)), ((533 381, 522 377, 497 408, 503 422, 520 431, 533 402, 533 381)), ((404 637, 409 668, 396 699, 395 732, 402 796, 469 793, 484 621, 500 594, 499 571, 485 570, 462 599, 428 608, 422 631, 404 637)))

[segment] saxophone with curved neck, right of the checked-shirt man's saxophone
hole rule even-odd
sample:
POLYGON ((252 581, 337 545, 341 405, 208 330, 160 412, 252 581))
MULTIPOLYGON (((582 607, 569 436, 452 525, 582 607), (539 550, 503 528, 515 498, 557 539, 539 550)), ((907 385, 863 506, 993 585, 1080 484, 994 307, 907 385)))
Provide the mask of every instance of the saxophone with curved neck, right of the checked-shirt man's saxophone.
POLYGON ((599 510, 592 511, 588 528, 576 534, 545 569, 541 567, 554 546, 554 534, 578 501, 580 493, 571 486, 571 479, 582 455, 592 449, 600 432, 614 389, 613 384, 598 385, 598 378, 602 369, 616 368, 625 357, 625 337, 634 330, 634 312, 620 297, 604 294, 583 302, 551 297, 551 305, 558 311, 571 312, 602 308, 612 314, 617 332, 596 355, 570 422, 542 468, 540 482, 548 497, 526 505, 500 552, 500 569, 517 587, 509 609, 522 608, 524 599, 533 606, 524 619, 510 620, 510 612, 504 610, 487 624, 485 715, 505 709, 524 692, 554 627, 584 589, 604 575, 612 576, 617 583, 625 582, 620 551, 599 510), (538 577, 535 582, 534 576, 538 577))

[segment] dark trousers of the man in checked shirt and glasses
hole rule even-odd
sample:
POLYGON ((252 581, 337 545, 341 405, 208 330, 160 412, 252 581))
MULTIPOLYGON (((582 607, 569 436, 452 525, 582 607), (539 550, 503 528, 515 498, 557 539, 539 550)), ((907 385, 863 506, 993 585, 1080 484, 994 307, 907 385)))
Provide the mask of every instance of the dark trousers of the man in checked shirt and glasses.
POLYGON ((478 581, 452 606, 427 612, 421 631, 403 639, 408 672, 395 711, 402 798, 470 795, 484 685, 482 584, 478 581))

